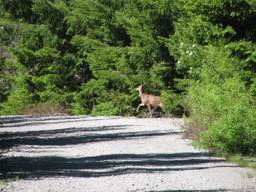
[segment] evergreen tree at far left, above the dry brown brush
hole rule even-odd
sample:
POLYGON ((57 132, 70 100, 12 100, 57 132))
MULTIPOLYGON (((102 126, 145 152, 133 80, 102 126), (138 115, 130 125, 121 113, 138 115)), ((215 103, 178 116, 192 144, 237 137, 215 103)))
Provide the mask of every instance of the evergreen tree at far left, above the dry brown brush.
POLYGON ((20 108, 43 101, 65 104, 66 92, 77 90, 75 59, 68 54, 70 37, 64 22, 68 5, 63 1, 3 1, 1 5, 6 29, 2 38, 14 34, 12 42, 5 43, 8 51, 3 49, 4 54, 13 56, 3 62, 10 72, 7 76, 14 77, 10 80, 12 92, 3 104, 5 113, 20 113, 20 108), (15 106, 9 105, 13 103, 15 106))

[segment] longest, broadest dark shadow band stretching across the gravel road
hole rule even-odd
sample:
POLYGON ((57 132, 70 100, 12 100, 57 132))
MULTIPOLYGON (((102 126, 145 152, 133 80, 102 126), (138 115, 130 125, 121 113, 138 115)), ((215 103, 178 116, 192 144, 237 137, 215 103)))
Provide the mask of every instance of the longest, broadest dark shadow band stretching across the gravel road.
MULTIPOLYGON (((130 173, 175 172, 208 169, 205 164, 220 163, 207 153, 113 154, 81 158, 59 156, 7 157, 1 162, 0 179, 42 177, 104 177, 130 173)), ((216 165, 215 167, 231 167, 216 165)))

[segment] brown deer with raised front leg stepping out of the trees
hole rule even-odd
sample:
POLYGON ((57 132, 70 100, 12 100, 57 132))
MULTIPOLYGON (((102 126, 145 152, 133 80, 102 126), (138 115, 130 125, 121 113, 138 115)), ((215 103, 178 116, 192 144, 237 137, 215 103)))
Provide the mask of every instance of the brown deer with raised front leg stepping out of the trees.
POLYGON ((151 114, 151 107, 160 107, 163 109, 163 103, 160 102, 160 97, 156 95, 150 95, 143 93, 143 86, 145 85, 145 82, 141 83, 135 90, 140 92, 140 99, 141 103, 136 109, 136 111, 139 113, 140 106, 148 106, 148 111, 150 114, 150 118, 152 118, 151 114))

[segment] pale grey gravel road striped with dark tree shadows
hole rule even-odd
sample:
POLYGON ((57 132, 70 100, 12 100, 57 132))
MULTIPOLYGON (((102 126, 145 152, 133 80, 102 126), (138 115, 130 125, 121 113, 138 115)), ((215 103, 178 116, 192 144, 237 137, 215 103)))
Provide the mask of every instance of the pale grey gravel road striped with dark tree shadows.
MULTIPOLYGON (((182 119, 2 116, 2 191, 256 191, 255 172, 195 149, 182 119), (15 179, 17 178, 17 180, 15 179)), ((1 191, 0 190, 0 191, 1 191)))

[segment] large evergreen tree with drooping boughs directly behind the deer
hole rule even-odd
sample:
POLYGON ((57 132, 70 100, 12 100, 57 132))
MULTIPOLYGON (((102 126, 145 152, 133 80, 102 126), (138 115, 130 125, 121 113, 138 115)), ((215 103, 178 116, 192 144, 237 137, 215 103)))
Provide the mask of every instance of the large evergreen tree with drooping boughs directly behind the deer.
POLYGON ((71 42, 93 75, 83 94, 91 95, 93 104, 111 102, 120 108, 135 105, 139 97, 133 89, 145 79, 154 94, 173 87, 174 61, 158 36, 173 32, 175 15, 165 1, 118 2, 94 1, 86 12, 91 16, 88 33, 75 35, 71 42))

